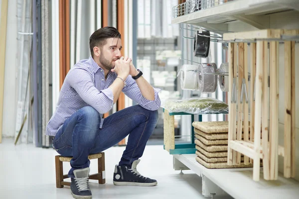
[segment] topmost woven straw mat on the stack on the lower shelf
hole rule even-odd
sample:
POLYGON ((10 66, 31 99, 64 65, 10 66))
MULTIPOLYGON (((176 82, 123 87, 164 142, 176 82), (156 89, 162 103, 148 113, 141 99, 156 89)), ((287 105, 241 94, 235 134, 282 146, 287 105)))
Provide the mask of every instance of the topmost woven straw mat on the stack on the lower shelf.
MULTIPOLYGON (((205 133, 227 133, 228 121, 194 121, 192 126, 205 133)), ((248 122, 250 127, 250 122, 248 122)), ((242 126, 242 131, 244 126, 242 126)), ((250 131, 250 128, 249 128, 250 131)))

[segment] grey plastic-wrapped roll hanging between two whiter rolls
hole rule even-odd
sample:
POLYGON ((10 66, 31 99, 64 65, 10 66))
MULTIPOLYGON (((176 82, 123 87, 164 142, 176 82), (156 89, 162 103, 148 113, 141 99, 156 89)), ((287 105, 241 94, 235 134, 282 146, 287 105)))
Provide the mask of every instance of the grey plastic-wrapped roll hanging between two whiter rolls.
POLYGON ((210 75, 210 73, 216 73, 216 70, 217 66, 215 63, 199 64, 198 90, 201 93, 214 93, 216 91, 218 76, 210 75))

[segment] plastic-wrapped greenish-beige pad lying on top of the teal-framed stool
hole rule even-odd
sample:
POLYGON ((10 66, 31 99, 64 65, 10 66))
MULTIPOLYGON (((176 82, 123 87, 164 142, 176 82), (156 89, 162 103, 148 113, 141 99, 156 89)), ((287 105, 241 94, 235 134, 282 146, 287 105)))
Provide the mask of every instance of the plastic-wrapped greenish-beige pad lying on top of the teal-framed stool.
POLYGON ((169 112, 186 112, 190 114, 228 113, 228 105, 223 101, 213 98, 166 100, 163 108, 169 112))

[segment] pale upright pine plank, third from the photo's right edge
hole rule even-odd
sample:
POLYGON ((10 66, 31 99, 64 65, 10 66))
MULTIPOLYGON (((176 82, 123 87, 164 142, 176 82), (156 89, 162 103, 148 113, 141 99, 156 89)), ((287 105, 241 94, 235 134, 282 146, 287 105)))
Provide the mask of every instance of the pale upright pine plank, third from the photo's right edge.
POLYGON ((270 180, 278 178, 278 107, 279 107, 279 90, 278 90, 278 47, 276 41, 270 42, 270 180))

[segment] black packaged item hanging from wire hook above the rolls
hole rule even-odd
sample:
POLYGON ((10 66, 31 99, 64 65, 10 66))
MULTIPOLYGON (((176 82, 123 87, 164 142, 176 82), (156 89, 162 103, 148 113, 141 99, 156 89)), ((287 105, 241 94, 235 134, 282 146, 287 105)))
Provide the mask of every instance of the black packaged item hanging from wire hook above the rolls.
POLYGON ((196 35, 194 38, 194 56, 207 58, 209 55, 209 49, 210 49, 210 31, 202 30, 202 33, 196 31, 196 35))

